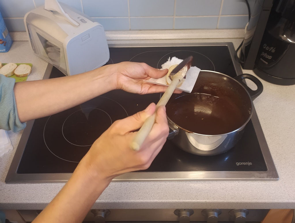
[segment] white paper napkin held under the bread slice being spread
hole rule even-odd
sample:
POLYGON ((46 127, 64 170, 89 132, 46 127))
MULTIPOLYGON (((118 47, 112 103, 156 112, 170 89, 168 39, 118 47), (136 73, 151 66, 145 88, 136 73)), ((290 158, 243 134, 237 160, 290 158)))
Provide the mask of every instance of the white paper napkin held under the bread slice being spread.
MULTIPOLYGON (((162 64, 162 70, 163 69, 169 69, 169 67, 171 67, 172 65, 180 64, 182 61, 183 61, 182 59, 178 59, 175 56, 172 57, 171 59, 169 57, 168 61, 165 62, 164 64, 162 64)), ((184 79, 181 86, 179 88, 176 88, 176 89, 191 93, 191 91, 193 90, 194 85, 196 83, 196 80, 197 80, 197 78, 199 76, 200 70, 201 69, 199 69, 196 66, 191 66, 191 68, 186 73, 186 79, 184 79)), ((148 80, 145 80, 145 82, 168 86, 168 84, 166 82, 166 75, 161 77, 161 78, 158 78, 158 79, 150 78, 148 80)))

